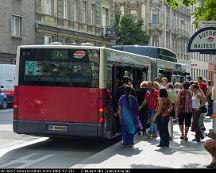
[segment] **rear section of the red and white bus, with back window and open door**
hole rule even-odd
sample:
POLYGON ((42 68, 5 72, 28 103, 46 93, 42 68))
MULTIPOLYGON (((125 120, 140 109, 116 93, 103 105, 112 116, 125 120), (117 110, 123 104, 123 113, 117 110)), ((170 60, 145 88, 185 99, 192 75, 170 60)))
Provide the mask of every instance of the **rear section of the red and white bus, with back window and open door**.
POLYGON ((114 138, 118 81, 138 88, 150 58, 105 47, 24 45, 17 48, 13 129, 18 134, 114 138))

